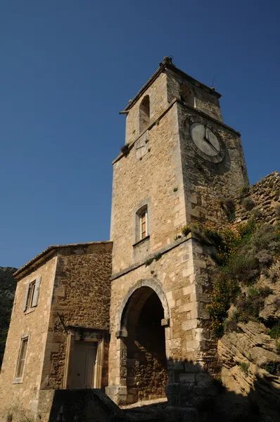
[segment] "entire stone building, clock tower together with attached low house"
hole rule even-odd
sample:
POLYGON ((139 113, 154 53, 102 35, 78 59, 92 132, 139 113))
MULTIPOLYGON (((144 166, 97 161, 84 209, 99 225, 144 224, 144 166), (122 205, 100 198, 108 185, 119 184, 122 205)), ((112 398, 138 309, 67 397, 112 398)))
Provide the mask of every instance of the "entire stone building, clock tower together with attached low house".
POLYGON ((166 57, 121 112, 110 241, 51 246, 15 273, 2 414, 42 417, 42 404, 68 388, 106 388, 117 404, 166 391, 184 404, 210 381, 209 251, 181 231, 223 224, 220 198, 248 185, 219 98, 166 57))

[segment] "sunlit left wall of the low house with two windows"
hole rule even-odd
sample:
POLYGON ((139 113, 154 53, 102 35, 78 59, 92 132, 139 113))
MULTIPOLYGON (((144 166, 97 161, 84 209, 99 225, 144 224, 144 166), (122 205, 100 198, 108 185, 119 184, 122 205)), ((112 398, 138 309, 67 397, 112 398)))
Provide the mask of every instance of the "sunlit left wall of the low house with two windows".
POLYGON ((13 414, 13 421, 23 420, 23 414, 31 417, 37 408, 37 391, 42 376, 56 262, 57 257, 51 257, 42 266, 18 279, 0 375, 0 414, 5 421, 7 414, 13 414), (31 312, 23 312, 27 285, 37 276, 42 277, 37 307, 31 312), (27 359, 23 381, 15 383, 15 369, 22 335, 29 335, 27 359))

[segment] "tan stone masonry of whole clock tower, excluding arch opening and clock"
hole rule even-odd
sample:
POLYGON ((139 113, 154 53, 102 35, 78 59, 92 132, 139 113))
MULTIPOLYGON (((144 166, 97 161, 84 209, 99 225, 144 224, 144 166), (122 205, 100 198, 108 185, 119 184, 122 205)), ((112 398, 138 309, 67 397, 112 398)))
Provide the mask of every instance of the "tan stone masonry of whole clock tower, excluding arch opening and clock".
POLYGON ((160 104, 157 110, 162 114, 153 114, 143 135, 145 142, 130 137, 128 150, 113 162, 108 394, 120 402, 131 399, 115 394, 119 388, 119 396, 122 392, 123 396, 127 395, 127 369, 122 364, 127 359, 120 326, 122 302, 124 298, 129 300, 133 286, 139 283, 139 288, 143 287, 146 280, 151 288, 157 282, 155 286, 160 286, 168 302, 170 327, 165 328, 165 346, 167 359, 170 359, 170 383, 197 383, 196 375, 188 373, 184 359, 198 362, 212 373, 217 371, 216 343, 209 333, 205 310, 210 286, 208 267, 212 268, 209 251, 195 238, 186 244, 176 239, 182 226, 193 220, 227 222, 221 199, 234 196, 239 188, 248 184, 248 177, 240 134, 222 123, 219 94, 199 87, 198 83, 191 85, 184 74, 180 76, 175 70, 165 69, 165 74, 160 74, 129 109, 127 133, 133 132, 131 122, 135 129, 139 103, 144 96, 150 95, 151 108, 153 104, 160 104), (182 82, 195 92, 197 108, 178 98, 182 82), (191 122, 207 124, 217 134, 224 153, 220 162, 204 160, 191 147, 188 141, 191 122), (142 156, 138 151, 141 148, 142 156), (144 205, 148 207, 148 237, 137 241, 136 215, 144 205), (147 267, 145 262, 155 254, 163 256, 147 267), (179 363, 173 365, 172 362, 179 363))

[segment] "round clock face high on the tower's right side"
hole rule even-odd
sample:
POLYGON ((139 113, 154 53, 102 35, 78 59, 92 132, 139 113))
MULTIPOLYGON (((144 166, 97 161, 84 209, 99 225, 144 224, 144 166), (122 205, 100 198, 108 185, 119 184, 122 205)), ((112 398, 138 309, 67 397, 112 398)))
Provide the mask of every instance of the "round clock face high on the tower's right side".
POLYGON ((222 140, 217 131, 203 118, 194 117, 184 120, 186 141, 201 158, 210 162, 224 159, 222 140))

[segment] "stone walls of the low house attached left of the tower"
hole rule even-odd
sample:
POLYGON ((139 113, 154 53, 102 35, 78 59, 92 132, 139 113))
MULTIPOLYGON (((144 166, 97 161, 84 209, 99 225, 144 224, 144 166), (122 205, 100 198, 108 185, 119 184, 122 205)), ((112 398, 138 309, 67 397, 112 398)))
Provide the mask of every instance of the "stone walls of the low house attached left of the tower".
MULTIPOLYGON (((75 340, 98 343, 94 382, 107 385, 111 242, 50 247, 15 273, 18 286, 0 375, 1 416, 37 413, 46 390, 69 388, 75 340), (23 311, 27 286, 41 277, 36 307, 23 311), (28 336, 23 378, 15 378, 20 338, 28 336)), ((20 419, 21 418, 21 419, 20 419)))

